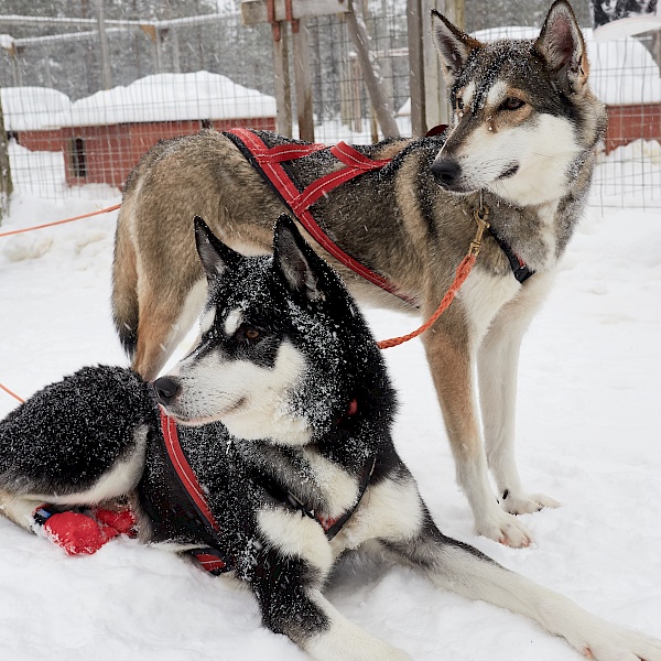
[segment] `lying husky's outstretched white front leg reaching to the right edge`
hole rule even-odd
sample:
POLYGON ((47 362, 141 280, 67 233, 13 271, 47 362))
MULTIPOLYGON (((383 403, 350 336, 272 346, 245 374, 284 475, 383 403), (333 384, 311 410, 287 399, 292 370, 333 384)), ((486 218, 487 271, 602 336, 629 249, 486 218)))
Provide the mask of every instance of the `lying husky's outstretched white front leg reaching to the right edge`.
MULTIPOLYGON (((410 489, 414 489, 413 479, 410 489)), ((476 549, 445 537, 422 500, 416 533, 393 527, 381 549, 429 576, 436 585, 470 599, 481 599, 523 615, 596 661, 661 661, 661 641, 615 626, 587 613, 571 599, 506 570, 476 549)), ((415 513, 418 513, 415 512, 415 513)), ((409 512, 411 518, 412 512, 409 512)), ((403 520, 403 517, 400 517, 403 520)))

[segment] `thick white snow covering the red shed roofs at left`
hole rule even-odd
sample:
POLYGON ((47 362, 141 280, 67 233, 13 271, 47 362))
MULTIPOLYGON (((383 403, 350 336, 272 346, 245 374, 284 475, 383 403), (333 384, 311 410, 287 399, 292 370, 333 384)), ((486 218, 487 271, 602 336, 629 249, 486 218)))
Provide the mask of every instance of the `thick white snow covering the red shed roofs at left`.
POLYGON ((208 72, 147 76, 74 102, 59 91, 41 87, 4 88, 1 94, 4 127, 14 131, 275 117, 274 97, 208 72))

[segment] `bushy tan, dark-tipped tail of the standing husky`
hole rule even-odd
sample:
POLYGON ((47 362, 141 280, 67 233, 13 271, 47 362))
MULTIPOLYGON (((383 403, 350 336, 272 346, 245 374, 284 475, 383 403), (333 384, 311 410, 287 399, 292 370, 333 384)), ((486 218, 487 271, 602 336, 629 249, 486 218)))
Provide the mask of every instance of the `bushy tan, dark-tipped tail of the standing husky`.
POLYGON ((115 257, 112 260, 112 321, 119 340, 133 359, 138 343, 138 266, 136 263, 136 249, 129 236, 124 208, 122 207, 117 220, 115 237, 115 257))

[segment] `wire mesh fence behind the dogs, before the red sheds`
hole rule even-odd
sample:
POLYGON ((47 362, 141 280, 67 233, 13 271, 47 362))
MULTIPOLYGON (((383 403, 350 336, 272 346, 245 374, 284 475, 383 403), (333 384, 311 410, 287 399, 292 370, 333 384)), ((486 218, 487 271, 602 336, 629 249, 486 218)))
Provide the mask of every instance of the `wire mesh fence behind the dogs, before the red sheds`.
MULTIPOLYGON (((159 139, 204 127, 275 129, 269 24, 242 25, 234 0, 210 13, 199 4, 199 14, 167 21, 140 15, 139 3, 133 6, 136 13, 123 15, 122 24, 107 20, 105 73, 98 30, 0 25, 6 32, 0 94, 15 192, 56 199, 116 196, 159 139), (105 75, 109 89, 100 89, 105 75)), ((0 1, 0 12, 1 7, 0 1)), ((465 26, 483 40, 534 37, 546 10, 548 2, 537 0, 466 0, 465 26)), ((372 61, 399 130, 410 134, 407 2, 369 0, 364 12, 372 61)), ((586 7, 578 18, 589 24, 586 7)), ((306 24, 315 140, 380 139, 346 20, 332 14, 306 24)), ((659 34, 596 43, 586 30, 590 80, 610 118, 595 176, 596 204, 661 207, 659 34)))

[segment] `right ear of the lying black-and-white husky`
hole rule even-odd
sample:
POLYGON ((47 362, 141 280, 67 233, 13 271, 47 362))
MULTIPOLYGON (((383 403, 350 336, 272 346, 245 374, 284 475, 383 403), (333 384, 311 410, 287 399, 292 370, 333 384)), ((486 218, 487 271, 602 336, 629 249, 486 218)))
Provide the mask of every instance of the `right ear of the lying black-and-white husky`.
POLYGON ((273 235, 273 264, 286 286, 300 292, 310 301, 324 299, 318 286, 319 257, 305 242, 294 221, 283 214, 275 223, 273 235))

